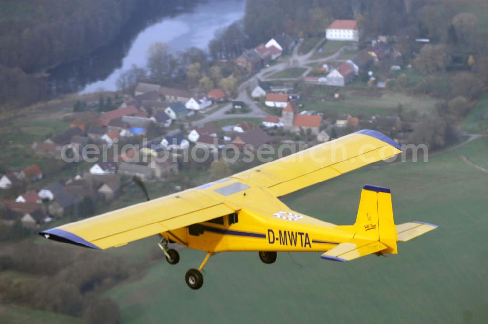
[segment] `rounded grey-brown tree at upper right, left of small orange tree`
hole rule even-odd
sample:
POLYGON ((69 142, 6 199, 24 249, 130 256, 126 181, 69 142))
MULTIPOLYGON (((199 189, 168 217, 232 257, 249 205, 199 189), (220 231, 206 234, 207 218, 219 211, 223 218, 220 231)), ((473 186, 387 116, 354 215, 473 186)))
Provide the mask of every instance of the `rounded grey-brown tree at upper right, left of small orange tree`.
POLYGON ((452 58, 444 45, 427 44, 422 47, 413 61, 415 67, 423 73, 445 71, 452 58))

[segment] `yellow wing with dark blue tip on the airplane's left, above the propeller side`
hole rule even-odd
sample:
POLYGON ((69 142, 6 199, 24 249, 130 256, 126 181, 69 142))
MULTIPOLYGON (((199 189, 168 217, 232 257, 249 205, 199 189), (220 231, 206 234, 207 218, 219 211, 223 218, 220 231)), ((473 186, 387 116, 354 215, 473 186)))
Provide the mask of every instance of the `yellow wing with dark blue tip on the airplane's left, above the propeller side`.
POLYGON ((145 203, 111 211, 40 234, 48 239, 106 249, 201 223, 235 212, 199 189, 189 189, 145 203))

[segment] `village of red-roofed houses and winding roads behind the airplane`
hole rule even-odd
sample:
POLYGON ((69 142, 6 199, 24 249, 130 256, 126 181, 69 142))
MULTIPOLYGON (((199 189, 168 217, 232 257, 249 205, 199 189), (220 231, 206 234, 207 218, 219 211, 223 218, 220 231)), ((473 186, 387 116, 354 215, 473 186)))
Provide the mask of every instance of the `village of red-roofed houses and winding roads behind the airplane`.
POLYGON ((298 54, 304 41, 286 34, 246 50, 234 60, 247 78, 238 91, 215 88, 204 93, 139 82, 132 94, 109 98, 110 104, 103 98, 98 105, 76 102, 72 112, 63 115, 69 128, 33 142, 31 149, 42 159, 61 160, 63 155, 80 156, 86 145, 95 144, 105 146, 112 159, 83 164, 85 169, 77 167, 68 178, 51 174, 52 181, 44 179, 42 185, 36 185, 43 178, 38 165, 10 166, 0 177, 0 190, 26 191, 2 201, 1 224, 37 228, 61 217, 89 216, 94 202, 122 195, 131 177, 164 181, 178 174, 182 163, 174 159, 151 163, 167 151, 178 155, 190 147, 220 152, 226 145, 254 150, 263 144, 312 146, 364 128, 407 143, 412 127, 398 107, 385 109, 386 114, 327 109, 344 101, 341 89, 349 83, 356 83, 359 98, 381 99, 381 89, 391 88, 398 71, 412 68, 404 64, 394 39, 380 36, 362 49, 359 41, 355 20, 335 20, 325 38, 305 54, 298 54), (327 47, 334 51, 327 52, 327 47), (317 93, 320 99, 314 98, 317 93), (312 101, 322 102, 324 109, 309 108, 312 101), (107 104, 115 109, 103 109, 107 104), (142 147, 122 152, 123 144, 142 147), (136 156, 143 156, 144 162, 136 156))

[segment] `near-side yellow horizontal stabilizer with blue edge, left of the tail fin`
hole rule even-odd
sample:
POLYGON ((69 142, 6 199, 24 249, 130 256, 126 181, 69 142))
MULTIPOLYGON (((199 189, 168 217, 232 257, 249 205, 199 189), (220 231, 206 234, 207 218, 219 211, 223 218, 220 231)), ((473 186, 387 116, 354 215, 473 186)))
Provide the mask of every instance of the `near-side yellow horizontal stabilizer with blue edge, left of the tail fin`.
POLYGON ((361 243, 346 242, 328 250, 322 254, 321 258, 325 260, 345 262, 364 257, 371 253, 380 252, 386 248, 387 246, 379 241, 366 243, 364 241, 361 243))

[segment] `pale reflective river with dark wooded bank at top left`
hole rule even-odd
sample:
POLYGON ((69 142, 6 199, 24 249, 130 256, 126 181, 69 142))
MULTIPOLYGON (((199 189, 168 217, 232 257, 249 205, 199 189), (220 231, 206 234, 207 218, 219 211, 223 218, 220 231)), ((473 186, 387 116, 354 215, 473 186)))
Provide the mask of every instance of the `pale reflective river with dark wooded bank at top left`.
POLYGON ((217 29, 244 17, 244 6, 245 0, 206 0, 184 7, 168 4, 160 8, 161 13, 142 12, 107 46, 48 71, 51 94, 116 90, 123 71, 133 64, 146 66, 147 49, 154 42, 165 42, 178 51, 192 46, 207 50, 217 29))

